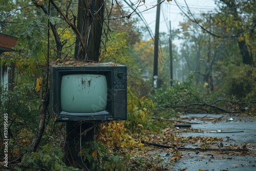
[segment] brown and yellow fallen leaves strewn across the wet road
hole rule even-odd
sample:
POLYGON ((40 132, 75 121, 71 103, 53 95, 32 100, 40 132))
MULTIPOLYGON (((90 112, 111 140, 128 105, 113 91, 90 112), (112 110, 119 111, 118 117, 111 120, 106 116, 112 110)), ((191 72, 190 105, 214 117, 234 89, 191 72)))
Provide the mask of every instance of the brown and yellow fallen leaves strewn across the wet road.
MULTIPOLYGON (((205 120, 211 122, 219 122, 223 117, 220 118, 204 118, 205 120)), ((182 118, 184 119, 184 118, 182 118)), ((189 118, 195 120, 195 118, 189 118)), ((179 123, 178 121, 173 121, 173 123, 179 123)), ((138 158, 146 158, 146 166, 148 170, 172 170, 174 168, 175 162, 184 158, 185 155, 190 155, 195 153, 202 160, 205 156, 210 156, 209 162, 214 162, 215 159, 226 158, 232 160, 236 156, 254 156, 256 157, 256 145, 255 144, 236 144, 230 137, 206 137, 203 134, 200 136, 181 136, 183 133, 205 133, 205 130, 185 128, 179 129, 178 127, 167 127, 163 129, 160 133, 149 134, 144 137, 146 142, 154 144, 164 145, 168 148, 162 148, 152 145, 144 145, 143 148, 139 149, 140 155, 138 158), (184 149, 182 150, 182 148, 184 149), (190 152, 190 149, 195 149, 194 152, 190 152), (209 149, 209 150, 207 150, 209 149), (225 149, 227 149, 225 151, 225 149), (242 151, 241 151, 242 149, 242 151), (154 163, 156 157, 158 156, 158 162, 154 163), (218 156, 218 157, 215 157, 218 156), (160 159, 161 162, 160 163, 160 159), (149 162, 151 161, 151 162, 149 162), (150 164, 151 163, 151 164, 150 164)), ((214 131, 207 131, 208 133, 214 131)), ((216 132, 216 131, 215 131, 216 132)), ((218 131, 217 131, 218 132, 218 131)), ((220 131, 218 132, 220 133, 220 131)), ((138 164, 138 163, 137 163, 138 164)), ((141 169, 141 168, 140 168, 141 169)), ((134 170, 140 170, 134 168, 134 170)), ((179 170, 186 170, 187 168, 179 168, 179 170)), ((201 170, 201 169, 198 169, 201 170)))

